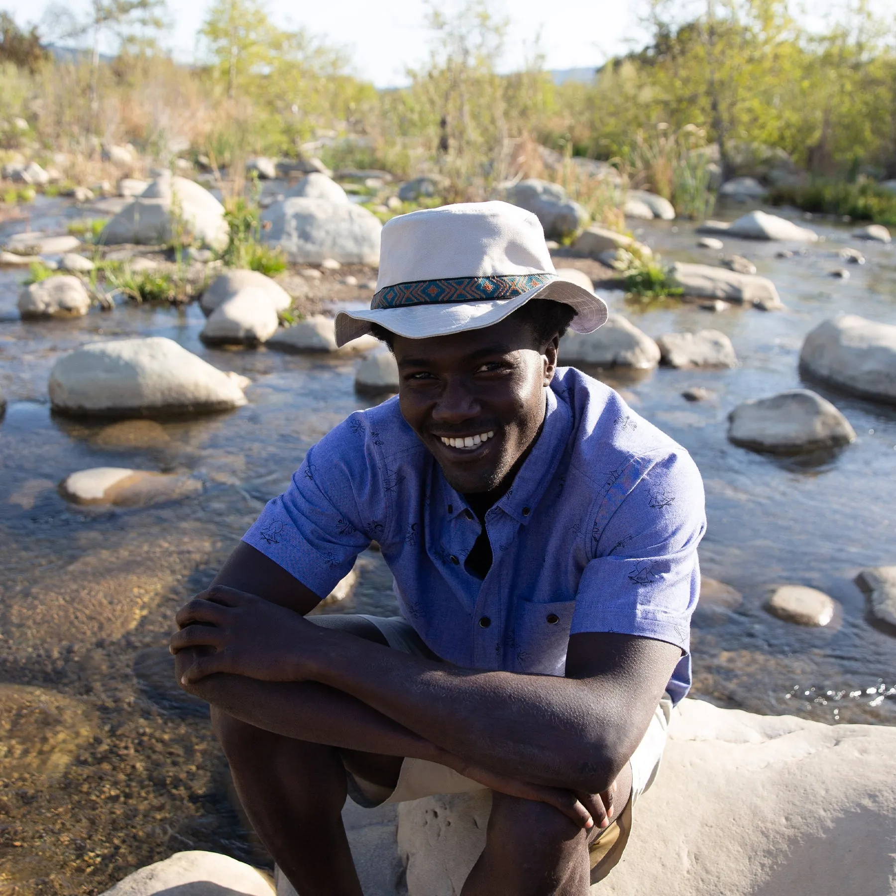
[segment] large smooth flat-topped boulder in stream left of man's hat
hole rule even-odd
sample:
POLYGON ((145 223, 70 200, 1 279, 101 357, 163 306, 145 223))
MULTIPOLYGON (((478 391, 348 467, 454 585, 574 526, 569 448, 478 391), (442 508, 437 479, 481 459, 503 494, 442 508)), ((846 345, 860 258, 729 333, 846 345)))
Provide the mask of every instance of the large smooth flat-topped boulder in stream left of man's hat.
POLYGON ((53 409, 66 414, 152 417, 238 408, 248 383, 152 336, 92 342, 58 358, 49 394, 53 409))

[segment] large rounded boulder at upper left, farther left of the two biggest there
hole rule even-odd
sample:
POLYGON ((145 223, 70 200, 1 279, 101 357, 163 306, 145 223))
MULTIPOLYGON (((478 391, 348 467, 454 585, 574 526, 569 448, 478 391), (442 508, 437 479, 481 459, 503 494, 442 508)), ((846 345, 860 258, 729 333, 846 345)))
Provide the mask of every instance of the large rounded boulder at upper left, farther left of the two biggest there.
POLYGON ((227 246, 224 206, 205 187, 168 172, 125 205, 103 228, 99 241, 106 245, 169 243, 179 226, 173 210, 179 212, 186 235, 213 249, 227 246))

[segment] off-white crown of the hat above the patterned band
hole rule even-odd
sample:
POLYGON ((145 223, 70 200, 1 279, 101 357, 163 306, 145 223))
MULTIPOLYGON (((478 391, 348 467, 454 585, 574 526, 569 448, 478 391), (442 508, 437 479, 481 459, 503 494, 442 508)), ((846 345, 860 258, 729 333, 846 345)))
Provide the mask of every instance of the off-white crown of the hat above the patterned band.
POLYGON ((544 230, 508 202, 460 202, 383 227, 376 290, 419 280, 554 273, 544 230))

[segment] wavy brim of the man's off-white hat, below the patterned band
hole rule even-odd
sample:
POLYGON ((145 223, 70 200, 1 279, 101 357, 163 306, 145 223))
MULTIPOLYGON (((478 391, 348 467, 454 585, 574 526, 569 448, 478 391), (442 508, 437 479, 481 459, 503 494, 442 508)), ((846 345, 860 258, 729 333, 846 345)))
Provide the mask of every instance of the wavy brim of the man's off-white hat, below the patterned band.
POLYGON ((481 330, 503 321, 533 298, 549 298, 572 306, 575 317, 570 328, 575 332, 594 332, 607 323, 607 305, 602 298, 568 280, 552 280, 513 298, 377 308, 375 311, 340 311, 336 315, 336 344, 341 348, 347 342, 358 339, 358 336, 369 333, 374 323, 408 339, 429 339, 481 330))

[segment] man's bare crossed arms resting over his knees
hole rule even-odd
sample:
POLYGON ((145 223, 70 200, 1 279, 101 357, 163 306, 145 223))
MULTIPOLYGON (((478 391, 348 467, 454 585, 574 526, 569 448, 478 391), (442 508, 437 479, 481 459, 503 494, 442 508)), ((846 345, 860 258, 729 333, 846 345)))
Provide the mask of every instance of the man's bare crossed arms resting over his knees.
POLYGON ((582 633, 570 638, 566 677, 480 672, 312 625, 302 616, 318 601, 240 543, 177 616, 182 685, 289 737, 598 794, 643 737, 680 657, 666 642, 582 633), (323 699, 339 711, 310 710, 323 699))

